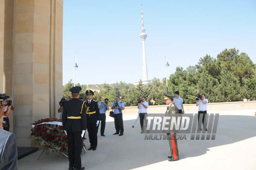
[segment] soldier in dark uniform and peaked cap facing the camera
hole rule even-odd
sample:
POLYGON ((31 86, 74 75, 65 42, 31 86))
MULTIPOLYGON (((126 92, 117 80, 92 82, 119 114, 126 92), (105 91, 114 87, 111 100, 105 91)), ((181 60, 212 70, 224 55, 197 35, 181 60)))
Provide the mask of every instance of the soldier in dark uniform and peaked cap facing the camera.
POLYGON ((97 139, 97 125, 100 122, 100 111, 98 102, 92 100, 93 91, 87 90, 85 92, 87 96, 87 100, 85 101, 87 110, 86 110, 86 118, 87 118, 87 131, 90 140, 90 148, 88 150, 96 150, 98 139, 97 139))

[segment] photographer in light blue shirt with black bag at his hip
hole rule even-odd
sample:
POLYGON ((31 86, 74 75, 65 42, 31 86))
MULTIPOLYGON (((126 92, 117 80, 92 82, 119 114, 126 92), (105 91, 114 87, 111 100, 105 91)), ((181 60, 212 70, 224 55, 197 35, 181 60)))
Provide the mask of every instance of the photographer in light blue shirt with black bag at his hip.
POLYGON ((120 101, 119 96, 116 96, 116 102, 112 103, 111 109, 114 109, 114 123, 116 128, 116 133, 113 135, 117 135, 120 132, 119 136, 123 136, 124 125, 122 110, 125 110, 125 105, 122 101, 120 101))

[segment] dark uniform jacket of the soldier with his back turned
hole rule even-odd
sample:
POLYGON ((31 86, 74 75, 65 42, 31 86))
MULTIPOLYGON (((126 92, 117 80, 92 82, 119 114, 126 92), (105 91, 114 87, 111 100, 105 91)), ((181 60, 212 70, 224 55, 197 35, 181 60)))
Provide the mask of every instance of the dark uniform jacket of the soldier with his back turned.
POLYGON ((62 125, 65 131, 78 132, 86 130, 86 105, 83 101, 73 98, 65 102, 62 112, 62 125), (80 116, 81 118, 67 118, 80 116))

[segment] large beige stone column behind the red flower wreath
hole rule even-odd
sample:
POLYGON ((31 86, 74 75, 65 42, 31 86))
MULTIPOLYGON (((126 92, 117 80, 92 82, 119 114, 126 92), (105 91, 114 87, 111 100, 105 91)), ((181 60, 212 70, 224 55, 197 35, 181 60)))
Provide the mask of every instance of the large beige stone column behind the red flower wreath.
POLYGON ((13 132, 28 147, 31 124, 55 117, 62 97, 63 0, 13 2, 13 132))

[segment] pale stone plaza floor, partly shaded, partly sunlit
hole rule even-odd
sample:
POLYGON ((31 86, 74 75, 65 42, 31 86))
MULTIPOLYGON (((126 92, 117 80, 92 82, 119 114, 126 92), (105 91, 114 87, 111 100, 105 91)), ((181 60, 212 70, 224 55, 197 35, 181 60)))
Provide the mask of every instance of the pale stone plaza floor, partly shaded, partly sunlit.
MULTIPOLYGON (((144 140, 139 121, 131 128, 137 114, 124 115, 124 135, 115 133, 113 118, 106 122, 106 137, 98 133, 95 151, 81 156, 86 170, 256 170, 255 109, 214 111, 219 113, 215 140, 178 140, 180 160, 169 162, 168 140, 144 140)), ((193 113, 193 112, 190 112, 193 113)), ((89 148, 86 132, 86 147, 89 148)), ((56 153, 37 151, 18 161, 19 170, 67 170, 69 161, 56 153)))

